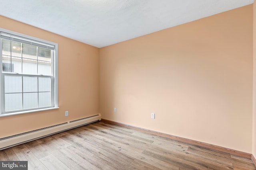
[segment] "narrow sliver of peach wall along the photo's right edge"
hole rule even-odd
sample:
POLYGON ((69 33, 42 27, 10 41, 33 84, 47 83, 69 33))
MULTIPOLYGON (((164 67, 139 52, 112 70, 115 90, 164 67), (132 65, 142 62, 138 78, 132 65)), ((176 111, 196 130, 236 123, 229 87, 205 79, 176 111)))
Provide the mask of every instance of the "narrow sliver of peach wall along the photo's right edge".
POLYGON ((252 154, 256 158, 256 2, 253 4, 253 116, 252 116, 252 154))

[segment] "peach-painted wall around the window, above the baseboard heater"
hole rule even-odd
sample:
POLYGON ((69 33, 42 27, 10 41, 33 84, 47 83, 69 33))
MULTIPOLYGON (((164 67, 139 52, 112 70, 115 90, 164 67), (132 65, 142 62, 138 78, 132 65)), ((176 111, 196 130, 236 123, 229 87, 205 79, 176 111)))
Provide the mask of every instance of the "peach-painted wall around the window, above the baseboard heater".
POLYGON ((59 109, 0 117, 0 138, 99 113, 99 49, 0 16, 0 27, 58 43, 59 109), (69 111, 65 117, 64 112, 69 111))

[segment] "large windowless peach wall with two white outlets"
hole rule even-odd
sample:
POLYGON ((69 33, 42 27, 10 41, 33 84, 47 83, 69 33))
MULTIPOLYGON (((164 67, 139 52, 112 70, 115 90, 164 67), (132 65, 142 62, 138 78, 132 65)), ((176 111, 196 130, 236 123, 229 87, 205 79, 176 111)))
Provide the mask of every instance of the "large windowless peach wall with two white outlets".
POLYGON ((100 113, 251 153, 252 5, 101 48, 100 113))

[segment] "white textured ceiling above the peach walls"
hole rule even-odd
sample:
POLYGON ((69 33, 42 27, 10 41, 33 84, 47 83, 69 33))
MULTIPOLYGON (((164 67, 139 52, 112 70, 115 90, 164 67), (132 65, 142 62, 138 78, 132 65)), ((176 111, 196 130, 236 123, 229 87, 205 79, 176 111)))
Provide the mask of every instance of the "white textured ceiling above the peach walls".
POLYGON ((0 0, 0 15, 105 47, 254 0, 0 0))

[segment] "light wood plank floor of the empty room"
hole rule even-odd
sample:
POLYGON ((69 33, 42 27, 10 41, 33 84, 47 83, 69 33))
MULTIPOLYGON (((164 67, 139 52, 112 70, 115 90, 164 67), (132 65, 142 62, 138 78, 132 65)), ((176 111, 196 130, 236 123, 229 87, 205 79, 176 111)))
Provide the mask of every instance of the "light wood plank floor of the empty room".
POLYGON ((255 170, 252 160, 99 121, 0 151, 29 170, 255 170))

